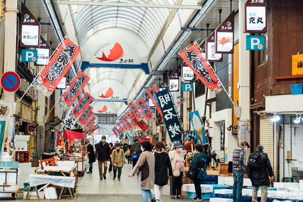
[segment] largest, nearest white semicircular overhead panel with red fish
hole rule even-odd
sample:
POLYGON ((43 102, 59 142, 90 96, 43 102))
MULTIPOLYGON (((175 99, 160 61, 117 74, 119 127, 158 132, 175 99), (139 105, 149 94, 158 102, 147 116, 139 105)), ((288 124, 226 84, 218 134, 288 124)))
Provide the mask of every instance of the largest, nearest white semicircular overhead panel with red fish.
POLYGON ((90 63, 141 64, 140 57, 131 45, 122 41, 109 41, 92 52, 90 63))

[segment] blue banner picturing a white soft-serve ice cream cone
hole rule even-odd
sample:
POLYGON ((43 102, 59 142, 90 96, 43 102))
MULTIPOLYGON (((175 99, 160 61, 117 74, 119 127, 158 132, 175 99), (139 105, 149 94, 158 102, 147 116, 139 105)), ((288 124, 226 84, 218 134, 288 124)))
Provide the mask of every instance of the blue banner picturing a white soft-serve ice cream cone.
POLYGON ((201 119, 199 118, 199 112, 194 111, 189 113, 191 124, 196 136, 196 140, 200 144, 207 144, 207 138, 205 136, 205 130, 201 119))

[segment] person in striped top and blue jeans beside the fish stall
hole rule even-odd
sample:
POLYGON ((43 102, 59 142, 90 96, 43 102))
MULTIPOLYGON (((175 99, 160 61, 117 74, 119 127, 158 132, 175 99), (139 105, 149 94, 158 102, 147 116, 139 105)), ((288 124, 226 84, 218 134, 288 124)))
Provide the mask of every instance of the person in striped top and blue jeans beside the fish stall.
POLYGON ((242 201, 242 189, 243 189, 243 178, 244 178, 244 156, 245 150, 249 148, 249 143, 244 140, 240 145, 233 150, 232 154, 232 175, 233 175, 233 202, 242 201))

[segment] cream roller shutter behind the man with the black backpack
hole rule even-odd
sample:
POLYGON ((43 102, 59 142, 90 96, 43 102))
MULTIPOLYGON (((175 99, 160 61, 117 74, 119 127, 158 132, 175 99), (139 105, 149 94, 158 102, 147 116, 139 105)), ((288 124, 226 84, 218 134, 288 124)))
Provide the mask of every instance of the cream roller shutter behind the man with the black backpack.
POLYGON ((260 117, 260 144, 264 146, 274 169, 274 127, 270 116, 260 117))

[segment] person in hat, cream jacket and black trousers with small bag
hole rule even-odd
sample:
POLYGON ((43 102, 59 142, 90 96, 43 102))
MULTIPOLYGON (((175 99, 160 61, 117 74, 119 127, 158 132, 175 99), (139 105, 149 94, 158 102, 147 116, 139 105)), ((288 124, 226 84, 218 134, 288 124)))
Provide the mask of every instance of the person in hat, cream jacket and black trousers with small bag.
POLYGON ((173 169, 173 176, 170 180, 170 194, 171 198, 173 199, 175 199, 175 195, 177 195, 177 198, 183 198, 181 196, 182 178, 184 171, 184 157, 182 150, 183 145, 178 142, 175 144, 175 149, 168 153, 173 169))

